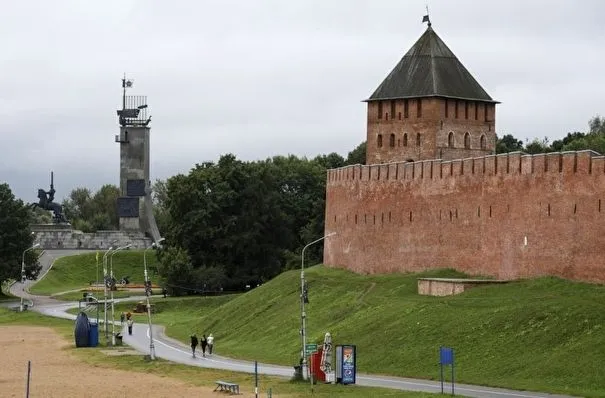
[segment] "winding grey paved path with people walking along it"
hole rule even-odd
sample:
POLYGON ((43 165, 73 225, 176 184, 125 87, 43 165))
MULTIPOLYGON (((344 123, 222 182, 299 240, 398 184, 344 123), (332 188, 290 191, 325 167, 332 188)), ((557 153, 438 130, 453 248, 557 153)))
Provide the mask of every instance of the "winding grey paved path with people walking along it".
MULTIPOLYGON (((67 256, 77 253, 78 251, 53 251, 47 254, 47 257, 44 258, 46 262, 43 264, 43 272, 47 270, 52 261, 55 258, 61 256, 67 256)), ((41 275, 43 275, 41 272, 41 275)), ((20 283, 15 284, 11 287, 11 292, 17 296, 25 294, 27 297, 31 298, 35 305, 34 310, 49 316, 65 318, 65 319, 75 319, 75 315, 68 314, 66 311, 70 308, 74 308, 78 306, 77 302, 62 302, 58 300, 54 300, 49 297, 40 297, 40 296, 32 296, 27 292, 24 292, 20 283)), ((28 284, 29 285, 29 284, 28 284)), ((141 297, 131 297, 129 299, 116 299, 116 302, 119 301, 132 301, 132 300, 140 300, 141 297)), ((101 320, 102 321, 102 320, 101 320)), ((121 327, 118 325, 116 329, 120 329, 121 327)), ((102 329, 102 328, 100 328, 102 329)), ((102 330, 99 330, 100 338, 103 338, 102 330)), ((205 368, 213 368, 213 369, 225 369, 237 372, 246 372, 253 373, 254 372, 254 363, 250 361, 241 361, 236 359, 231 359, 219 355, 207 356, 206 358, 192 358, 190 348, 174 339, 166 337, 163 332, 163 327, 159 325, 153 326, 153 334, 154 334, 154 345, 156 356, 162 359, 166 359, 169 361, 190 365, 190 366, 199 366, 205 368)), ((126 328, 122 329, 122 335, 124 336, 124 343, 128 344, 132 348, 140 351, 142 353, 149 353, 149 328, 147 324, 136 323, 133 327, 133 335, 129 336, 126 332, 126 328)), ((220 342, 219 342, 220 346, 220 342)), ((279 366, 279 365, 270 365, 270 364, 258 364, 258 371, 262 374, 274 375, 274 376, 283 376, 283 377, 291 377, 293 375, 294 369, 289 366, 279 366)), ((368 374, 358 374, 357 375, 357 384, 362 386, 371 386, 371 387, 383 387, 383 388, 392 388, 398 390, 409 390, 409 391, 421 391, 421 392, 432 392, 439 393, 441 392, 441 385, 439 382, 430 381, 430 380, 422 380, 422 379, 408 379, 401 377, 390 377, 390 376, 375 376, 368 374)), ((446 392, 447 390, 446 386, 446 392)), ((516 398, 541 398, 541 397, 552 397, 552 398, 570 398, 570 396, 566 395, 553 395, 546 393, 536 393, 536 392, 528 392, 528 391, 515 391, 501 388, 490 388, 490 387, 482 387, 468 384, 456 384, 455 392, 458 395, 464 395, 468 397, 485 397, 485 398, 503 398, 503 397, 516 397, 516 398)))

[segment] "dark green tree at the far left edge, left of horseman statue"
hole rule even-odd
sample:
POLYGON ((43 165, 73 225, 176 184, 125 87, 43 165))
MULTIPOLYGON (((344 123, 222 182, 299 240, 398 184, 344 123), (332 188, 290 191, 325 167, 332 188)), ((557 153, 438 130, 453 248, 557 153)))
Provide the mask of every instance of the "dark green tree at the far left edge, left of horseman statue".
MULTIPOLYGON (((15 199, 8 184, 0 184, 0 282, 21 279, 23 252, 32 247, 34 236, 29 227, 33 216, 23 201, 15 199)), ((40 272, 37 253, 25 255, 25 273, 35 279, 40 272)))

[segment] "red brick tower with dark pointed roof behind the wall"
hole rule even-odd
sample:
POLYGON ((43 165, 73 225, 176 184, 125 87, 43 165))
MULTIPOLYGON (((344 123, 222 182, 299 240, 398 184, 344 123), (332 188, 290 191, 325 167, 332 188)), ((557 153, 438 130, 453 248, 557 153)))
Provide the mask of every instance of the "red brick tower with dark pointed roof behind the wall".
POLYGON ((428 28, 368 103, 367 164, 494 153, 496 104, 428 28))

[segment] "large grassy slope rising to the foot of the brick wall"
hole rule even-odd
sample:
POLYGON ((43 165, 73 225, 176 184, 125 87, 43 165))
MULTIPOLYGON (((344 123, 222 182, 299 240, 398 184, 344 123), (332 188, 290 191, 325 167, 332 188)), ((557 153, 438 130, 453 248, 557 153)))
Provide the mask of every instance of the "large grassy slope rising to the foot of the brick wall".
MULTIPOLYGON (((356 344, 360 372, 438 379, 439 346, 450 346, 459 382, 605 396, 603 286, 540 278, 427 297, 416 293, 418 276, 461 274, 361 276, 317 266, 306 275, 309 342, 329 331, 335 344, 356 344)), ((290 271, 224 302, 158 302, 154 322, 182 341, 212 332, 220 354, 292 365, 299 286, 300 273, 290 271)))

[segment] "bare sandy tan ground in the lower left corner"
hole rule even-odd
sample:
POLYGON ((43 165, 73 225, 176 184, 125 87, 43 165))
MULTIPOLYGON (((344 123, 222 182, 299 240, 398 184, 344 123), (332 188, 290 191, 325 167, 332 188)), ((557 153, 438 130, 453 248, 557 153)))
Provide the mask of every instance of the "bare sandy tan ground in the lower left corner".
POLYGON ((31 360, 31 398, 228 396, 167 377, 94 367, 70 355, 66 346, 69 343, 50 328, 0 326, 0 395, 25 396, 31 360))

